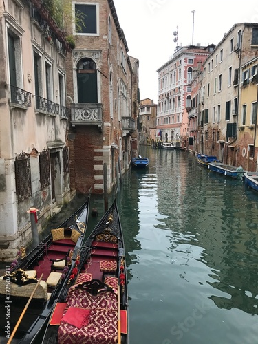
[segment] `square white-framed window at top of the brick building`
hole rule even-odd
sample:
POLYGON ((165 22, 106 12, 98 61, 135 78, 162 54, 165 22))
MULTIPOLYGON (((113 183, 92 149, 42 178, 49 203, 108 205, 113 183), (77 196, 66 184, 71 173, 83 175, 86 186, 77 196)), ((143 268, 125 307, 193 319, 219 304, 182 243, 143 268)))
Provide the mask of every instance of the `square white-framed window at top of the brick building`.
POLYGON ((98 34, 98 4, 73 3, 76 34, 98 34))

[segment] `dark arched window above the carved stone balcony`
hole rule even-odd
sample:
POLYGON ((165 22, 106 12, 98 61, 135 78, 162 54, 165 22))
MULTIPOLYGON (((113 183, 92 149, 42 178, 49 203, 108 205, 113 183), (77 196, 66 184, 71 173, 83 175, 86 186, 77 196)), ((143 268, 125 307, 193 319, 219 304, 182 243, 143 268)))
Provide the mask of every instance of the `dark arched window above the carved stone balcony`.
POLYGON ((98 103, 96 63, 82 58, 77 63, 78 103, 98 103))

